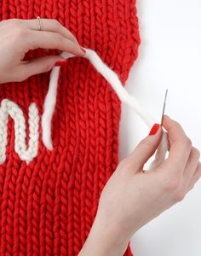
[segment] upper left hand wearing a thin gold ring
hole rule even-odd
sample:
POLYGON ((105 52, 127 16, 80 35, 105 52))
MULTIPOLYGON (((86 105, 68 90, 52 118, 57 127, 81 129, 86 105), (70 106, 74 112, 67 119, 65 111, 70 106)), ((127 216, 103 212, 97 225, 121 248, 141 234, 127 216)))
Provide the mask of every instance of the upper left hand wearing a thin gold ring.
POLYGON ((9 19, 0 21, 0 84, 20 82, 37 73, 48 72, 55 62, 64 61, 60 55, 47 55, 32 61, 23 61, 30 49, 59 49, 73 55, 84 55, 77 39, 57 20, 9 19))

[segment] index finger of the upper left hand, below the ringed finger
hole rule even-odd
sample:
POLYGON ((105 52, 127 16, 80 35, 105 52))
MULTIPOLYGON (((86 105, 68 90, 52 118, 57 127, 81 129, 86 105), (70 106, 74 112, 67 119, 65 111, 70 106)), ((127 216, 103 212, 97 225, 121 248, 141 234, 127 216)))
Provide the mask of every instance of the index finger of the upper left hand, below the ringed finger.
POLYGON ((71 40, 63 37, 59 33, 29 31, 27 37, 28 45, 25 46, 26 50, 37 48, 60 49, 68 51, 73 55, 84 55, 83 50, 80 48, 80 46, 78 46, 78 44, 73 43, 71 40))

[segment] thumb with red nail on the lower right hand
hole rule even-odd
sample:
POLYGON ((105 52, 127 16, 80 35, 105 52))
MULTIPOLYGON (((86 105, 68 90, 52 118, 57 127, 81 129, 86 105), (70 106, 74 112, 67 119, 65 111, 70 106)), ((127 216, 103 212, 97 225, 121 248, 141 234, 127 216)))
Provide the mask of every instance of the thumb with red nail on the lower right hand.
MULTIPOLYGON (((152 127, 152 130, 157 130, 154 135, 149 135, 145 137, 141 143, 137 145, 135 150, 129 155, 128 160, 131 163, 135 172, 138 172, 143 168, 146 161, 155 153, 158 145, 160 143, 163 130, 161 125, 155 124, 152 127)), ((151 131, 152 131, 151 130, 151 131)))

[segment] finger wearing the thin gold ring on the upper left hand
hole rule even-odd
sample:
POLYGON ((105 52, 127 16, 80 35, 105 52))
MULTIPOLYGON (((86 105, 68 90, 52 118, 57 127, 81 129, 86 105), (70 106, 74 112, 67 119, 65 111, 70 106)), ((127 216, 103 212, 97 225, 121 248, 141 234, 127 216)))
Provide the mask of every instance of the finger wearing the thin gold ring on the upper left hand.
MULTIPOLYGON (((62 26, 58 20, 55 19, 40 19, 42 31, 45 32, 57 32, 63 37, 72 40, 75 44, 78 44, 77 38, 70 32, 65 26, 62 26)), ((20 20, 19 25, 38 31, 38 20, 20 20)), ((78 44, 79 45, 79 44, 78 44)))

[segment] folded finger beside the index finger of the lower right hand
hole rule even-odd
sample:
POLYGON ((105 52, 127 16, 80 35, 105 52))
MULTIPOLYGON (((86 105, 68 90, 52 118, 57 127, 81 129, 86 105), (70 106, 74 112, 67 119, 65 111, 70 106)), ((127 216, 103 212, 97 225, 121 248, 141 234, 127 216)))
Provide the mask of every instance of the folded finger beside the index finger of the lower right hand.
POLYGON ((199 156, 200 153, 198 149, 192 147, 189 159, 187 160, 187 166, 185 167, 183 173, 183 183, 186 184, 186 186, 188 185, 188 183, 190 183, 194 172, 196 172, 199 162, 199 156))

